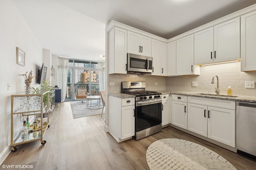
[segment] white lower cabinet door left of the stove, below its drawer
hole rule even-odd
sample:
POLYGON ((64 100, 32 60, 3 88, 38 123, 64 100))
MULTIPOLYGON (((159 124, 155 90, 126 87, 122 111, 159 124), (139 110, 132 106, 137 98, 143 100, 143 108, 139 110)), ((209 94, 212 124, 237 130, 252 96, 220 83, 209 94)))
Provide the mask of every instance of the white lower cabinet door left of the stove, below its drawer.
POLYGON ((121 139, 132 137, 135 134, 134 105, 122 107, 121 139))

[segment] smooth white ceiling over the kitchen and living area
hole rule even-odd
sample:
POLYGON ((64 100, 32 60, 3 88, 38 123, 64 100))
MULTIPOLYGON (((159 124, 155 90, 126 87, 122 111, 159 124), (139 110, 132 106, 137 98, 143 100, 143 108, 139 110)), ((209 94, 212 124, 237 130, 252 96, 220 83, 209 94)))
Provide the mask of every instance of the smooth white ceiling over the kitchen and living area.
POLYGON ((52 54, 104 61, 105 25, 111 20, 170 39, 255 0, 13 0, 52 54))

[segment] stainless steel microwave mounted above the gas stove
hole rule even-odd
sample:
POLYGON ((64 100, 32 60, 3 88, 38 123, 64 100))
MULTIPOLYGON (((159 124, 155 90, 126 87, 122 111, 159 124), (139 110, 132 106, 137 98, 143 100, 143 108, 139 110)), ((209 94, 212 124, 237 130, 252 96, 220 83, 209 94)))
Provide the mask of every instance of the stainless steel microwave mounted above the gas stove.
POLYGON ((153 71, 153 58, 127 53, 127 72, 150 73, 153 71))

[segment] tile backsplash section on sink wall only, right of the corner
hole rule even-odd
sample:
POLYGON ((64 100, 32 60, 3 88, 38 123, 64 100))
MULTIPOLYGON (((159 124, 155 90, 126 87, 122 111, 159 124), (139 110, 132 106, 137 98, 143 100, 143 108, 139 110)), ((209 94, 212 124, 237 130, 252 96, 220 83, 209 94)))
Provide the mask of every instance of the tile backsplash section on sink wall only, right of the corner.
POLYGON ((226 94, 231 86, 233 95, 256 96, 256 88, 244 88, 244 82, 256 82, 256 72, 241 72, 240 62, 201 66, 199 76, 167 77, 166 90, 215 93, 217 79, 211 84, 214 75, 219 77, 220 94, 226 94), (197 81, 198 86, 192 87, 192 81, 197 81))

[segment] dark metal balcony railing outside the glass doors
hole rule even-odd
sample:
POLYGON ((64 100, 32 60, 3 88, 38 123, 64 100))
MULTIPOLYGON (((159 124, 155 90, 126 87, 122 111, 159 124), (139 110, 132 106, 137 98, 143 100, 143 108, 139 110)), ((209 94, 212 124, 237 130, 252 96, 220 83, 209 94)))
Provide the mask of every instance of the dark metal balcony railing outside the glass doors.
MULTIPOLYGON (((86 88, 86 91, 88 93, 90 93, 92 96, 99 96, 100 92, 99 92, 99 84, 91 84, 91 90, 90 90, 90 84, 74 84, 75 86, 75 91, 77 88, 86 88)), ((67 95, 66 95, 66 99, 72 99, 72 84, 67 84, 67 95)))

